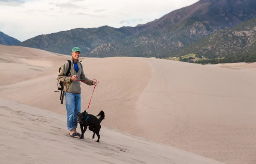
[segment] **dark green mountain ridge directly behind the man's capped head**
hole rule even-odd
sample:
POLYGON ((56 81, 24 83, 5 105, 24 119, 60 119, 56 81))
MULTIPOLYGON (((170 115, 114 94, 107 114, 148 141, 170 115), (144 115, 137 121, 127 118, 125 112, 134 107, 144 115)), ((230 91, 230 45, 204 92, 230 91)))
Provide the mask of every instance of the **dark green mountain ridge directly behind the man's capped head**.
POLYGON ((74 46, 78 46, 81 48, 82 53, 87 53, 103 43, 133 35, 137 32, 137 29, 140 28, 121 27, 117 29, 110 26, 88 29, 77 28, 47 35, 38 35, 19 43, 18 46, 43 49, 66 55, 70 55, 71 49, 74 46))

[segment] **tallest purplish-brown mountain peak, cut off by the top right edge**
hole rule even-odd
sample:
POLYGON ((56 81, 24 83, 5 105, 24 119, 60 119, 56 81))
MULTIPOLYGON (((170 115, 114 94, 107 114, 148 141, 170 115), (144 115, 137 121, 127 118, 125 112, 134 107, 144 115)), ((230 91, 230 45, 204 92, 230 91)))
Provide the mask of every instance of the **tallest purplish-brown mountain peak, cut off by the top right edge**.
POLYGON ((207 20, 215 26, 232 27, 253 17, 255 11, 255 0, 199 0, 190 6, 177 9, 159 19, 136 27, 161 29, 192 17, 207 20))

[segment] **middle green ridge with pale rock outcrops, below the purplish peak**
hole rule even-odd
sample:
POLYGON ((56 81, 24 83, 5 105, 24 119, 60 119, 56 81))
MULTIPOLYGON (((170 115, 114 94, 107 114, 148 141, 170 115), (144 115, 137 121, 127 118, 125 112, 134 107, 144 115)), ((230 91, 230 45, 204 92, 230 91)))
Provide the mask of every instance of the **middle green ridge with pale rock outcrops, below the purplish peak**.
MULTIPOLYGON (((186 20, 154 32, 143 31, 105 43, 86 54, 88 57, 138 56, 161 58, 209 35, 208 22, 186 20), (190 35, 190 37, 187 37, 190 35)), ((213 29, 212 29, 213 30, 213 29)))

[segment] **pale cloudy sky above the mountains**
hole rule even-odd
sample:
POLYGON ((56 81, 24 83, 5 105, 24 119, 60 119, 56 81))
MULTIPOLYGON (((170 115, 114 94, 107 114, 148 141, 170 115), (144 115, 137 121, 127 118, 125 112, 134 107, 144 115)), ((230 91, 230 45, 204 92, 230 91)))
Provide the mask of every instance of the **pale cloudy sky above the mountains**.
POLYGON ((0 0, 0 32, 24 41, 75 28, 136 26, 198 0, 0 0))

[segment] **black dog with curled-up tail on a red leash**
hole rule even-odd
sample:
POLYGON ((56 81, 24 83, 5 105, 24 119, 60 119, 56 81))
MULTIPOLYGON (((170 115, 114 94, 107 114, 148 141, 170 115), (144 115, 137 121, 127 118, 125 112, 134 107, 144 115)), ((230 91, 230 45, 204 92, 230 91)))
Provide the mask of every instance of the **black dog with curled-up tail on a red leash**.
POLYGON ((105 113, 103 111, 100 111, 97 116, 99 115, 100 117, 98 119, 95 115, 88 114, 86 110, 84 110, 84 112, 77 113, 77 122, 79 122, 80 124, 82 133, 80 139, 84 138, 84 132, 86 131, 87 126, 89 126, 89 130, 93 132, 93 138, 96 133, 96 135, 98 136, 97 142, 99 142, 99 130, 101 128, 100 123, 103 119, 105 119, 105 113))

